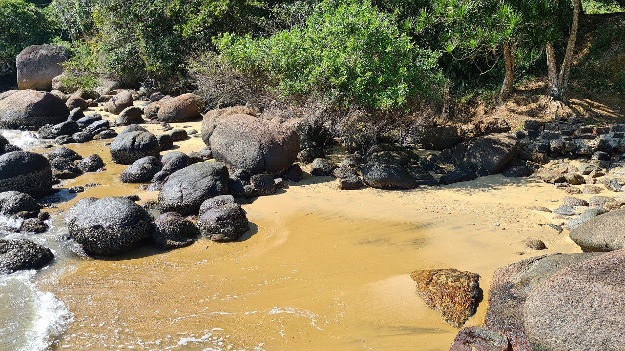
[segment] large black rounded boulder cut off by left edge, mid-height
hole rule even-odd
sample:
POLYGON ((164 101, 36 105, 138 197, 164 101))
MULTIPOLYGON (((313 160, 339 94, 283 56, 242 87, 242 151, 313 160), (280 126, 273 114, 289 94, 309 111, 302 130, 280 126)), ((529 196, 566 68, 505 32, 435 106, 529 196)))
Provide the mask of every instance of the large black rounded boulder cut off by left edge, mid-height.
POLYGON ((31 151, 0 156, 0 192, 16 190, 42 197, 52 190, 52 168, 46 157, 31 151))

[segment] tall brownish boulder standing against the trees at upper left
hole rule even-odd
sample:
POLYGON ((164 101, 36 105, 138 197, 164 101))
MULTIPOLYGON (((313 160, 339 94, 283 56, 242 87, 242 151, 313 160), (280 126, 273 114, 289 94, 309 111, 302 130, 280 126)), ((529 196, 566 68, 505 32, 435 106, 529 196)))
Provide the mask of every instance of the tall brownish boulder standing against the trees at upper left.
POLYGON ((19 89, 52 90, 52 80, 63 73, 63 62, 68 51, 63 46, 31 45, 22 50, 15 60, 19 89))

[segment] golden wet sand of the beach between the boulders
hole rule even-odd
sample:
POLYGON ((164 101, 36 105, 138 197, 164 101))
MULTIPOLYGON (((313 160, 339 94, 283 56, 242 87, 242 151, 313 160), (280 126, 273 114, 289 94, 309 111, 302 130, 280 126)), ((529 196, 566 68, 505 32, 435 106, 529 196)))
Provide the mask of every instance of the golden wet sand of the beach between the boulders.
MULTIPOLYGON (((183 125, 199 131, 197 121, 173 124, 183 125)), ((161 128, 146 126, 157 134, 161 128)), ((176 144, 187 153, 203 146, 201 138, 176 144)), ((111 162, 104 142, 68 147, 85 157, 97 152, 108 169, 62 184, 102 184, 69 205, 86 196, 158 194, 119 183, 126 166, 111 162)), ((498 267, 581 252, 566 230, 540 225, 562 220, 528 210, 554 209, 564 195, 552 184, 502 175, 414 190, 341 191, 331 177, 287 182, 287 189, 243 205, 252 230, 237 242, 143 247, 70 259, 45 273, 42 288, 75 314, 56 349, 448 350, 457 330, 426 307, 409 274, 479 274, 484 299, 466 325, 480 325, 498 267), (549 249, 527 249, 531 239, 549 249)))

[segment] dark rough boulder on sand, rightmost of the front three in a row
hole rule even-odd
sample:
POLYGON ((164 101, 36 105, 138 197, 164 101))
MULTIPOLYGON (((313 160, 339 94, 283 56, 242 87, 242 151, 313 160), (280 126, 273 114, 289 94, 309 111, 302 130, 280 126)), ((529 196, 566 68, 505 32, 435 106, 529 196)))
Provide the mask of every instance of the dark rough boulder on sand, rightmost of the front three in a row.
POLYGON ((239 204, 213 207, 202 214, 196 222, 202 237, 212 241, 237 240, 249 230, 249 222, 239 204))

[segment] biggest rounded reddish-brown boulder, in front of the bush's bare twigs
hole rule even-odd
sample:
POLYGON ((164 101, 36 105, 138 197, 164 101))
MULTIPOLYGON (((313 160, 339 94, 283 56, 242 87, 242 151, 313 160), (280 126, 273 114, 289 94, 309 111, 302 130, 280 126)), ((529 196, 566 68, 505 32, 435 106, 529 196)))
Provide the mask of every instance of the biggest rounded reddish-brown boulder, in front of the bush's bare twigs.
POLYGON ((224 117, 212 132, 212 155, 229 169, 282 174, 299 152, 299 136, 288 127, 246 114, 224 117))

